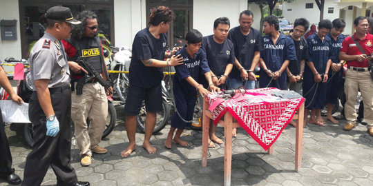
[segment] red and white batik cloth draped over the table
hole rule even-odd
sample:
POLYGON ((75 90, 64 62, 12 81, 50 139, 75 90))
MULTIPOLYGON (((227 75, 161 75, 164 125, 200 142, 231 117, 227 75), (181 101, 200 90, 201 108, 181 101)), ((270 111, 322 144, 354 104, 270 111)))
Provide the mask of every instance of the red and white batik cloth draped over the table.
MULTIPOLYGON (((304 98, 278 99, 269 94, 269 92, 276 90, 278 89, 262 88, 246 90, 246 94, 244 94, 245 99, 243 100, 226 99, 222 101, 211 112, 213 123, 215 125, 218 124, 220 118, 228 110, 233 118, 240 123, 241 127, 263 149, 269 149, 304 101, 304 98), (269 102, 265 101, 266 98, 269 102)), ((209 105, 218 99, 221 99, 219 98, 219 94, 207 94, 209 105)))

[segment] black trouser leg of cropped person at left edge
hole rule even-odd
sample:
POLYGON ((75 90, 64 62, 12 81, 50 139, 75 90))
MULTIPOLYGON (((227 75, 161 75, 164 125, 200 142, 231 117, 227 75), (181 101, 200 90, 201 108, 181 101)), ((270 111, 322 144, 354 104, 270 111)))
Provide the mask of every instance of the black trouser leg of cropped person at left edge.
POLYGON ((8 138, 5 133, 5 125, 0 110, 0 174, 12 173, 12 154, 10 154, 8 138))

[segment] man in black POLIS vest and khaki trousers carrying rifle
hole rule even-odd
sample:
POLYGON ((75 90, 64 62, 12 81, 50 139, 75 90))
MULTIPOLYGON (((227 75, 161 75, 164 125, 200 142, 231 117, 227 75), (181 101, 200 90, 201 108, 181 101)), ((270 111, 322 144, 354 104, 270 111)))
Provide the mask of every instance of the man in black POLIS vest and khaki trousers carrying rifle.
POLYGON ((91 163, 92 152, 105 154, 107 149, 100 147, 102 133, 105 130, 106 116, 108 115, 108 101, 106 96, 111 96, 113 89, 109 90, 97 82, 97 79, 90 79, 83 85, 82 94, 77 93, 76 85, 82 79, 84 68, 75 61, 79 56, 86 58, 86 61, 108 79, 104 56, 102 54, 102 44, 97 37, 97 16, 94 12, 83 11, 77 14, 77 20, 82 21, 71 30, 70 39, 62 41, 68 55, 68 65, 71 72, 71 118, 75 124, 75 138, 80 149, 82 159, 80 164, 88 166, 91 163), (75 89, 74 89, 75 87, 75 89), (78 95, 79 94, 79 95, 78 95), (90 120, 88 132, 87 118, 90 120))

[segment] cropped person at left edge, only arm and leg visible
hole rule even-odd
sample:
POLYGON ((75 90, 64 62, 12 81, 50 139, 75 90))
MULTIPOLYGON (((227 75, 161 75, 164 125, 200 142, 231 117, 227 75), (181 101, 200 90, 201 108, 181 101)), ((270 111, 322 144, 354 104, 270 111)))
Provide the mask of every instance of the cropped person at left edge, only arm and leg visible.
MULTIPOLYGON (((10 85, 8 77, 0 65, 0 86, 8 92, 10 99, 17 102, 19 105, 23 100, 17 96, 10 85)), ((0 178, 6 180, 9 184, 18 185, 21 183, 21 178, 15 174, 15 169, 12 169, 12 154, 10 154, 8 138, 4 129, 3 117, 0 110, 0 178)))

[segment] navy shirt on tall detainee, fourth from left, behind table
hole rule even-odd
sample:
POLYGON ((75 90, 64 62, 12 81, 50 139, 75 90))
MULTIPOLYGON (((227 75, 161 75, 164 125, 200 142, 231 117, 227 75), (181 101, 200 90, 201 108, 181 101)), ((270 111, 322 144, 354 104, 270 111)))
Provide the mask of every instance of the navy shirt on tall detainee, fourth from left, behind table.
MULTIPOLYGON (((262 45, 260 45, 260 39, 262 34, 259 30, 250 28, 249 34, 245 36, 240 30, 240 26, 232 28, 229 30, 228 39, 232 41, 234 45, 234 54, 236 59, 243 68, 249 70, 251 68, 251 63, 254 58, 254 53, 262 50, 262 45)), ((240 70, 233 68, 229 77, 234 79, 240 79, 240 70)))

